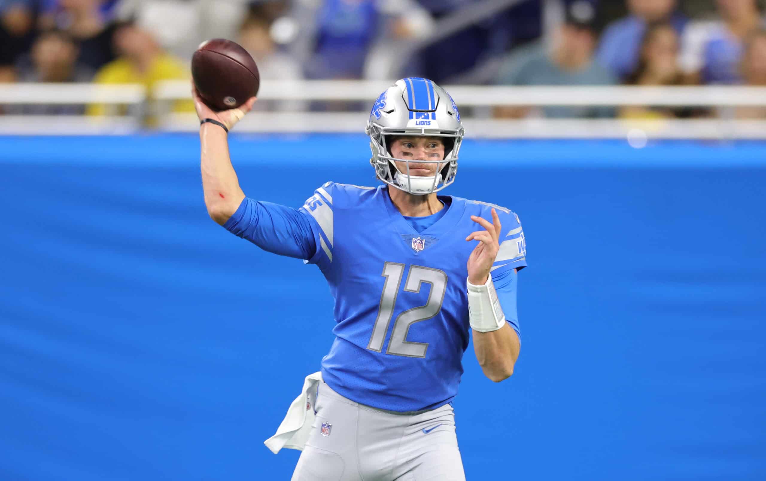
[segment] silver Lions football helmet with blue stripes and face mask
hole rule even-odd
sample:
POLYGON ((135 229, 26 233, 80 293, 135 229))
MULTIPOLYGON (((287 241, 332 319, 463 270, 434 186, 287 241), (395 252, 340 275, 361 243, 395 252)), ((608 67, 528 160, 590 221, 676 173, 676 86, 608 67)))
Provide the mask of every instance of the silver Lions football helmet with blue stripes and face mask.
POLYGON ((457 151, 460 150, 465 130, 455 101, 432 81, 421 77, 397 80, 375 101, 365 132, 370 136, 370 164, 375 167, 378 179, 386 184, 415 195, 425 195, 442 190, 455 181, 457 151), (391 135, 444 137, 444 160, 394 158, 390 142, 386 139, 391 135), (407 170, 399 171, 394 161, 404 162, 407 170), (434 176, 416 177, 409 174, 410 163, 436 162, 445 165, 434 176))

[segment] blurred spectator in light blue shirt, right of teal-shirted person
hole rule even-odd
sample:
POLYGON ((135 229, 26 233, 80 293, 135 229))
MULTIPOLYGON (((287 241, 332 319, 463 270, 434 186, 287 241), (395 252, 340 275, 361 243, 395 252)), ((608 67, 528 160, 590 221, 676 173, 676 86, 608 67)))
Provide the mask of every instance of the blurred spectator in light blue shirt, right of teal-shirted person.
POLYGON ((687 21, 676 0, 628 0, 627 7, 630 15, 607 25, 596 54, 601 65, 622 80, 638 67, 647 24, 667 22, 680 35, 687 21))

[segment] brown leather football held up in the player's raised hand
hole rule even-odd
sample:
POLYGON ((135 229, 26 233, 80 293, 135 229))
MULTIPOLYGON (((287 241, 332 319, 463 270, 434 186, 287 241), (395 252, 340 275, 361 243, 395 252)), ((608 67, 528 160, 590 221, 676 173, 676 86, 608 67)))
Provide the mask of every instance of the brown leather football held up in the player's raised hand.
POLYGON ((236 109, 258 93, 253 57, 225 38, 202 42, 191 57, 191 77, 202 100, 216 111, 236 109))

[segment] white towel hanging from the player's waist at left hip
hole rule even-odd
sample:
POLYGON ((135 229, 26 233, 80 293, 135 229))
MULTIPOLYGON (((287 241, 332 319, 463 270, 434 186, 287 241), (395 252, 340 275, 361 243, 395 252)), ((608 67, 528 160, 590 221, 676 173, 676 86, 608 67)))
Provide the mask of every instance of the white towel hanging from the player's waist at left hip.
POLYGON ((277 434, 264 441, 272 453, 279 453, 283 447, 302 451, 306 446, 311 425, 314 424, 316 388, 319 382, 322 382, 322 372, 309 374, 303 380, 303 390, 287 409, 282 424, 277 427, 277 434))

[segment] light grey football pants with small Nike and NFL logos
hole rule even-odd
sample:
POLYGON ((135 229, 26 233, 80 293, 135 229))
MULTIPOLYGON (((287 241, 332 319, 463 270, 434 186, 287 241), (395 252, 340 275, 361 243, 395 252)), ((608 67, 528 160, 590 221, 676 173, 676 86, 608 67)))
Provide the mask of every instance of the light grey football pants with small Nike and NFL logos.
POLYGON ((292 481, 466 479, 450 405, 419 413, 381 411, 344 398, 322 382, 315 407, 316 419, 292 481))

